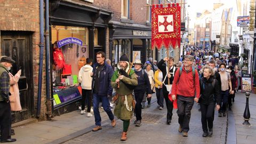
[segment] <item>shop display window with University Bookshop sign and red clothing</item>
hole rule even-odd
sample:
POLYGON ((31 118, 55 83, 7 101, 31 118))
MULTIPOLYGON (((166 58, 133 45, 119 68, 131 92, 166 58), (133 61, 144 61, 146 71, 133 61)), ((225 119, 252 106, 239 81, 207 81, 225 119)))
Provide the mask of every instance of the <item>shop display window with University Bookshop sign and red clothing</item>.
POLYGON ((78 73, 89 55, 88 37, 85 27, 51 27, 54 108, 81 99, 78 73))

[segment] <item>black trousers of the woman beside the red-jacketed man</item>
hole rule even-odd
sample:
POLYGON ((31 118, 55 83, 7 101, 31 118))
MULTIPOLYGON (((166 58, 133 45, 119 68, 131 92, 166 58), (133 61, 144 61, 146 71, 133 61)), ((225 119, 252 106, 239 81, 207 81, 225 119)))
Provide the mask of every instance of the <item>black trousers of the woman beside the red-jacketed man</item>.
POLYGON ((204 105, 200 103, 201 107, 201 122, 203 131, 208 132, 208 129, 212 129, 213 127, 213 119, 214 119, 214 108, 215 103, 210 103, 209 105, 204 105))

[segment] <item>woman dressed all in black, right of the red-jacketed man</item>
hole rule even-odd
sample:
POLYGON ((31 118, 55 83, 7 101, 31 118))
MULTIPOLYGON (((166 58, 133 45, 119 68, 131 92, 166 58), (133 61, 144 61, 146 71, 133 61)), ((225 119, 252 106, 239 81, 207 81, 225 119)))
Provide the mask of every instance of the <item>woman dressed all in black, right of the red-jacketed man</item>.
POLYGON ((203 77, 200 79, 200 93, 199 99, 201 107, 201 122, 203 128, 203 137, 211 137, 213 134, 213 116, 214 116, 214 95, 217 99, 216 109, 220 109, 221 97, 220 89, 217 79, 214 78, 214 70, 209 66, 203 67, 203 77))

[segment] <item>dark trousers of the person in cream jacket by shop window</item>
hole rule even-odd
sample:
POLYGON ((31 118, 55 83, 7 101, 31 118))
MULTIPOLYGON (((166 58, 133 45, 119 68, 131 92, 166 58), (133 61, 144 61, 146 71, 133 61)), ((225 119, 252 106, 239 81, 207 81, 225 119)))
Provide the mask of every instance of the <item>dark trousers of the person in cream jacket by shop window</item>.
POLYGON ((86 99, 88 100, 88 102, 87 102, 87 112, 90 113, 91 112, 91 105, 92 105, 92 90, 82 89, 82 100, 81 100, 82 110, 84 110, 86 99))

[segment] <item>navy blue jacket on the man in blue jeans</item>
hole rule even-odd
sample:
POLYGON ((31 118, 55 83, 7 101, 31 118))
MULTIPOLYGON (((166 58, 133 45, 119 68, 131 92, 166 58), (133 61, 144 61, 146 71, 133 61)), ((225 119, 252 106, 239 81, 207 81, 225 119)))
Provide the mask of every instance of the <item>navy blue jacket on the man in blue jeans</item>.
MULTIPOLYGON (((94 81, 95 81, 95 71, 96 68, 99 66, 98 63, 95 63, 93 65, 93 78, 92 78, 92 90, 94 88, 94 81)), ((99 84, 99 93, 98 95, 112 95, 113 88, 111 86, 111 77, 113 75, 114 71, 111 66, 107 64, 107 62, 104 62, 104 66, 100 71, 100 84, 99 84)))

